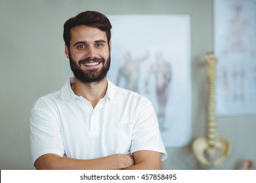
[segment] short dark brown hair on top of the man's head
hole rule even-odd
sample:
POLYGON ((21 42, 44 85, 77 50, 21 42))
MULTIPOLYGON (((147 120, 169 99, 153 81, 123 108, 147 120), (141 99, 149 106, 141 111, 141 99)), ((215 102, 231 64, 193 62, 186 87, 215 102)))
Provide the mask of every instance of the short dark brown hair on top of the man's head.
POLYGON ((77 25, 87 25, 91 27, 96 27, 101 31, 106 32, 106 37, 108 39, 108 44, 111 39, 111 31, 112 25, 110 24, 110 20, 100 12, 96 11, 85 11, 77 14, 77 16, 70 18, 64 24, 63 31, 63 39, 68 48, 70 48, 70 30, 77 25))

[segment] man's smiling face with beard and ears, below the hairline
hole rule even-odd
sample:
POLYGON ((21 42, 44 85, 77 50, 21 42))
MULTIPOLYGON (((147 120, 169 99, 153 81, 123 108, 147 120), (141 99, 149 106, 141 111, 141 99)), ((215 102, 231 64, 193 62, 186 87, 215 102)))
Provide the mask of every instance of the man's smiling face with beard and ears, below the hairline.
POLYGON ((110 69, 110 46, 106 33, 95 27, 79 25, 70 31, 66 56, 75 78, 83 83, 100 82, 110 69))

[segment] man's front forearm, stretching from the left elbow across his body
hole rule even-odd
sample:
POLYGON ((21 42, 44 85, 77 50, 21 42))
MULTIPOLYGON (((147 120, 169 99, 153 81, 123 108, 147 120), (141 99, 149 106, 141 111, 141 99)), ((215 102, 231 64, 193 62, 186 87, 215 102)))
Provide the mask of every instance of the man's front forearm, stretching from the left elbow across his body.
POLYGON ((124 169, 133 165, 129 155, 116 154, 96 159, 62 158, 54 154, 45 154, 35 161, 36 169, 124 169))

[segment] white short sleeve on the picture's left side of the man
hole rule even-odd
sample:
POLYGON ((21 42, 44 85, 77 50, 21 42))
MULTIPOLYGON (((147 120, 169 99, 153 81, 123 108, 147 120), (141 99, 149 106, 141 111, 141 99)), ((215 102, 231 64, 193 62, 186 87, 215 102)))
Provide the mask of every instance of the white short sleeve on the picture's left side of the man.
POLYGON ((54 105, 39 99, 30 112, 30 146, 33 163, 43 154, 64 155, 64 145, 54 105))

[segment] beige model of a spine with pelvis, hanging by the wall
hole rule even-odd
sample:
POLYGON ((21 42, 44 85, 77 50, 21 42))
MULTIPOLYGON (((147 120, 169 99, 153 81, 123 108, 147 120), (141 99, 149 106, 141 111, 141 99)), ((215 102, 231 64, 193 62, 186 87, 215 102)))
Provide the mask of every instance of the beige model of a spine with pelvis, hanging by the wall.
POLYGON ((217 58, 208 53, 205 57, 207 63, 207 137, 200 137, 192 144, 194 155, 202 167, 218 167, 223 165, 226 157, 230 153, 230 143, 217 137, 217 125, 215 120, 215 80, 217 58))

